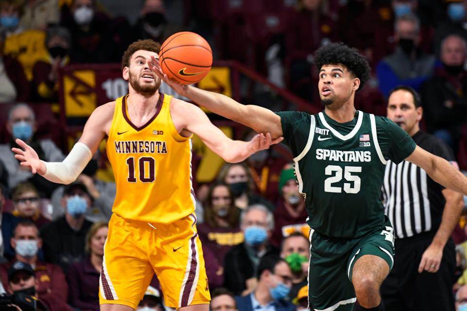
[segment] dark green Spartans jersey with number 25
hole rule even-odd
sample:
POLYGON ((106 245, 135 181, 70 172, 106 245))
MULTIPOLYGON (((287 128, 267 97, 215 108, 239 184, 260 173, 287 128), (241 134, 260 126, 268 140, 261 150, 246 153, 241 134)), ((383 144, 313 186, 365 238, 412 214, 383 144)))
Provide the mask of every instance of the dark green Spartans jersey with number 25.
POLYGON ((359 238, 384 225, 386 161, 400 163, 415 143, 393 121, 358 111, 339 123, 323 112, 279 112, 293 153, 308 225, 325 236, 359 238))

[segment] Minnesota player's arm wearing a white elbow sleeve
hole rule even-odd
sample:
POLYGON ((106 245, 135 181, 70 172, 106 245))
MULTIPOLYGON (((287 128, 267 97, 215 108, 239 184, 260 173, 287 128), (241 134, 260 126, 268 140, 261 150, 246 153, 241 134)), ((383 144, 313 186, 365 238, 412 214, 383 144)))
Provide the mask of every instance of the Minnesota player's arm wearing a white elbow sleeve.
MULTIPOLYGON (((12 148, 15 157, 21 161, 20 165, 31 169, 32 173, 39 173, 44 178, 59 184, 70 184, 84 170, 99 143, 104 138, 106 119, 110 110, 108 104, 100 106, 92 112, 84 127, 83 135, 68 156, 62 162, 44 162, 39 159, 36 151, 21 139, 16 142, 21 147, 12 148)), ((110 119, 113 116, 110 114, 110 119)))

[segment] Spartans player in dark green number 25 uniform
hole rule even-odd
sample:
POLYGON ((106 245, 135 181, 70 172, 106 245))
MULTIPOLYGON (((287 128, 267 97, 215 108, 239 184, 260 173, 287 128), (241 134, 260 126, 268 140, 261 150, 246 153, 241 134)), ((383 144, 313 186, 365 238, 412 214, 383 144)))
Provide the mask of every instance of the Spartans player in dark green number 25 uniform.
POLYGON ((394 262, 393 228, 380 201, 388 159, 413 162, 446 188, 467 194, 467 178, 448 161, 416 146, 389 119, 355 109, 355 93, 370 76, 368 62, 356 49, 332 43, 315 53, 324 105, 316 115, 274 113, 180 86, 153 63, 152 69, 180 95, 258 133, 284 137, 311 228, 311 310, 350 311, 356 300, 361 310, 384 310, 379 287, 394 262))

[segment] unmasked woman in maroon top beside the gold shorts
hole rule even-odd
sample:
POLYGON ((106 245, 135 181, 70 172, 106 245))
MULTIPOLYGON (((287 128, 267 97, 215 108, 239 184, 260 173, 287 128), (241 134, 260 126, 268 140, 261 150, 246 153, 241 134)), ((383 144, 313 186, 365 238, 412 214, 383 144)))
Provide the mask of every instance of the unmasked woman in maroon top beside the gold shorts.
POLYGON ((70 305, 81 310, 99 311, 99 276, 104 259, 107 223, 95 223, 86 235, 85 260, 72 264, 68 271, 70 305))

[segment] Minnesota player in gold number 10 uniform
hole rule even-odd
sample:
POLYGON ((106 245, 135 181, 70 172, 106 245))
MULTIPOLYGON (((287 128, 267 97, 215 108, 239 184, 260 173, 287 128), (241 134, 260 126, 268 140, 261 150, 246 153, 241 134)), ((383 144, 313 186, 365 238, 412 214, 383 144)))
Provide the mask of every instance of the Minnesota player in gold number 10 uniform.
POLYGON ((128 47, 122 69, 129 95, 94 110, 63 162, 39 160, 19 139, 24 150, 13 149, 33 173, 68 184, 108 136, 117 194, 100 277, 102 311, 135 310, 154 272, 167 306, 207 311, 210 295, 191 180, 192 133, 228 162, 240 162, 282 140, 271 141, 270 134, 249 142, 231 140, 197 106, 159 93, 161 79, 148 66, 159 49, 152 40, 128 47))

